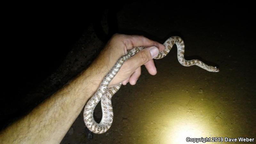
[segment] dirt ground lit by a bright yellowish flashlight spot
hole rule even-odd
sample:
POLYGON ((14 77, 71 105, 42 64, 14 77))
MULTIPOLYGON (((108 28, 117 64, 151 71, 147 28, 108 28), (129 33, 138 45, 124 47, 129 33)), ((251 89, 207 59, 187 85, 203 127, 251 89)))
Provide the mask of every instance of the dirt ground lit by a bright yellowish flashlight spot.
MULTIPOLYGON (((117 12, 120 33, 143 35, 160 43, 180 36, 187 60, 202 60, 220 72, 180 65, 174 46, 166 57, 154 60, 155 76, 143 66, 137 84, 122 86, 114 95, 114 120, 106 133, 87 139, 81 112, 61 143, 178 144, 186 143, 187 137, 256 138, 255 23, 251 19, 255 12, 228 5, 230 10, 155 2, 123 5, 117 12)), ((102 25, 107 33, 106 13, 102 25)), ((25 101, 29 96, 49 95, 58 88, 54 85, 65 84, 91 64, 104 44, 89 25, 43 87, 28 94, 25 101)), ((100 106, 95 116, 100 119, 100 106)))

